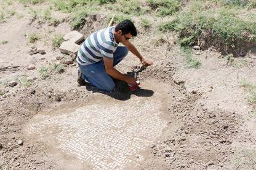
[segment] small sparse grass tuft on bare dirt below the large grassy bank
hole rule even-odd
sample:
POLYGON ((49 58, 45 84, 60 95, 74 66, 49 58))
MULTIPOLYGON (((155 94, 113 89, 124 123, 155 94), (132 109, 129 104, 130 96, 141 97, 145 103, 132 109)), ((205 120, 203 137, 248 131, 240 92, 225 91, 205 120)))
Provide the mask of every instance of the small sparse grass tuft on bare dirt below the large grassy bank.
POLYGON ((201 62, 198 59, 193 58, 191 48, 182 47, 181 53, 183 56, 185 56, 186 66, 188 68, 198 69, 201 66, 201 62))

